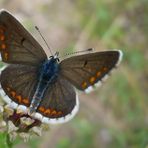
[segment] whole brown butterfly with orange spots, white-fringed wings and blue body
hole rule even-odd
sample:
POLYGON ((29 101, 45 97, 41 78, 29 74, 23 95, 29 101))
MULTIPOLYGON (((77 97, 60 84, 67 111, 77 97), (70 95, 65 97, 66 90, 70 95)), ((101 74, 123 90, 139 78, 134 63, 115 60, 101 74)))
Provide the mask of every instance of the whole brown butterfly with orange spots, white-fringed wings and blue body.
POLYGON ((0 52, 7 63, 0 75, 1 95, 16 110, 43 123, 63 123, 78 111, 76 89, 86 93, 116 68, 122 51, 102 51, 59 61, 47 57, 32 35, 6 10, 0 12, 0 52))

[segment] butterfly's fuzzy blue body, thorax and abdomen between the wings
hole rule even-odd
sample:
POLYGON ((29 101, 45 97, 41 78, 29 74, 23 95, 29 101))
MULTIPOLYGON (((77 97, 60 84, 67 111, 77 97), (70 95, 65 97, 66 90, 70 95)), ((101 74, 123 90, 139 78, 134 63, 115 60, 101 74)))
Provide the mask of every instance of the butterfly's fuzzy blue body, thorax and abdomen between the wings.
POLYGON ((49 60, 46 60, 41 64, 39 68, 38 83, 30 105, 31 113, 35 112, 40 105, 47 87, 50 87, 50 84, 56 81, 58 72, 59 64, 54 57, 51 57, 49 60))

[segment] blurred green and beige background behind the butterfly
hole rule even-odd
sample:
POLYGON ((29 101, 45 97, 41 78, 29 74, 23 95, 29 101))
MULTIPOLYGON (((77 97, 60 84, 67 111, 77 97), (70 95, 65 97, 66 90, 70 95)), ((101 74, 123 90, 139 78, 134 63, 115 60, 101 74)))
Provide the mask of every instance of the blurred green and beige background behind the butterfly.
MULTIPOLYGON (((79 92, 80 110, 70 122, 50 126, 42 137, 16 148, 148 147, 147 0, 0 0, 46 49, 37 25, 54 51, 122 49, 123 61, 89 95, 79 92)), ((48 49, 46 50, 49 53, 48 49)), ((0 147, 4 146, 0 134, 0 147)))

